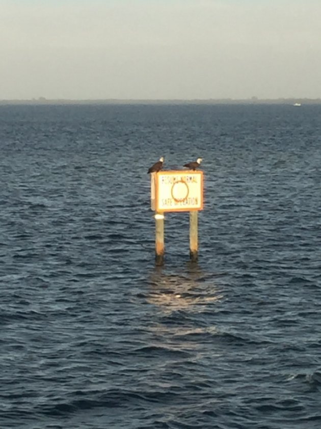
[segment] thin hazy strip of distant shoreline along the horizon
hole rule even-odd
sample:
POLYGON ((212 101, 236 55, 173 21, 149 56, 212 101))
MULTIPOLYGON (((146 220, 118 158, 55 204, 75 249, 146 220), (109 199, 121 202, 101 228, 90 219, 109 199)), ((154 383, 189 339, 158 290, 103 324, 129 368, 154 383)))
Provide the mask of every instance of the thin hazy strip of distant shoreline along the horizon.
POLYGON ((302 99, 302 98, 290 98, 290 99, 192 99, 192 100, 180 100, 180 99, 168 99, 168 100, 140 100, 140 99, 104 99, 104 100, 67 100, 67 99, 45 99, 44 97, 40 97, 39 99, 32 100, 0 100, 0 105, 12 105, 12 104, 20 104, 20 105, 76 105, 76 104, 321 104, 321 99, 302 99))

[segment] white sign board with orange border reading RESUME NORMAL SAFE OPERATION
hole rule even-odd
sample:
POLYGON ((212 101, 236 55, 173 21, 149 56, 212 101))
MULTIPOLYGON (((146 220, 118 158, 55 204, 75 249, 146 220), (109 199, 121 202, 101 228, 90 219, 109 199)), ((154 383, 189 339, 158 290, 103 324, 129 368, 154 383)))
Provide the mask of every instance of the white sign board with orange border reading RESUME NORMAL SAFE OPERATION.
POLYGON ((203 209, 202 171, 160 171, 155 180, 156 211, 203 209))

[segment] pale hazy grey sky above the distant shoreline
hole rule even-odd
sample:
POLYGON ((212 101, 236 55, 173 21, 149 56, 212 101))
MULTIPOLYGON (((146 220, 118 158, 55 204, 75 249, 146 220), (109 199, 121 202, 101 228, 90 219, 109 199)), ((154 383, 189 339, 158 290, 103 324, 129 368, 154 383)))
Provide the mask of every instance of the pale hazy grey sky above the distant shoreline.
POLYGON ((0 0, 0 100, 321 98, 321 0, 0 0))

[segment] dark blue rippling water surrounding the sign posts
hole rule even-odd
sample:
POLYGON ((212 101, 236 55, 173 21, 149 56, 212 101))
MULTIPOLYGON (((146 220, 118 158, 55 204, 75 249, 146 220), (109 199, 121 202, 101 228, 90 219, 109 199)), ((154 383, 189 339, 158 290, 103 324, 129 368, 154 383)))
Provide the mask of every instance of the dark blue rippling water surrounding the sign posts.
POLYGON ((321 106, 1 106, 0 150, 1 428, 321 427, 321 106))

